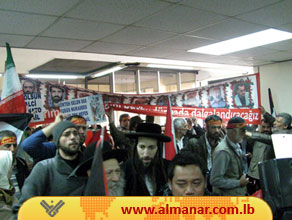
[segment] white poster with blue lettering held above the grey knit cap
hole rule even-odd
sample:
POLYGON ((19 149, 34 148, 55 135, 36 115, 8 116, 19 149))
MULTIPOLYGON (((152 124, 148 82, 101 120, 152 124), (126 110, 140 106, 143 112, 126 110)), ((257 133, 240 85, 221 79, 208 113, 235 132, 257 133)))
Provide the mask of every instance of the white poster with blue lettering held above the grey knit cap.
POLYGON ((87 125, 106 121, 104 105, 100 94, 59 102, 60 111, 68 116, 80 115, 87 125))

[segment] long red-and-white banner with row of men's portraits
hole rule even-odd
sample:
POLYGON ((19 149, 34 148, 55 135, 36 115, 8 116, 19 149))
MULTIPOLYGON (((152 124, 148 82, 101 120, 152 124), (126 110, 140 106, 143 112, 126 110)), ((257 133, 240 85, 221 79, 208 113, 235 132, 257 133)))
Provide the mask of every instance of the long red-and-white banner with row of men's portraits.
MULTIPOLYGON (((64 86, 20 77, 23 91, 30 100, 38 98, 37 107, 31 112, 38 114, 34 124, 50 123, 60 111, 59 103, 101 94, 105 110, 112 106, 115 110, 166 116, 167 100, 170 97, 174 117, 197 117, 218 115, 227 121, 233 116, 244 118, 249 124, 260 124, 260 82, 259 74, 233 78, 217 84, 189 90, 160 94, 118 94, 64 86), (40 101, 41 100, 41 101, 40 101), (39 103, 42 103, 41 106, 39 103), (43 115, 44 120, 41 121, 43 115)), ((28 105, 28 102, 27 102, 28 105)))

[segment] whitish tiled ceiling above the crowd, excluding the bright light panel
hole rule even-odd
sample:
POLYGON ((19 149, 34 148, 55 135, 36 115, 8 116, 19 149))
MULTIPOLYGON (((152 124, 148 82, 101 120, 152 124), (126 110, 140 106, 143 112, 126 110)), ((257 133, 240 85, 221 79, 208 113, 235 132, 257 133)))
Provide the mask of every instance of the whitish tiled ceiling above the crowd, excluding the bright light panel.
POLYGON ((292 0, 0 1, 0 46, 10 43, 23 73, 54 58, 249 67, 292 59, 292 40, 224 56, 187 52, 268 28, 292 32, 292 0))

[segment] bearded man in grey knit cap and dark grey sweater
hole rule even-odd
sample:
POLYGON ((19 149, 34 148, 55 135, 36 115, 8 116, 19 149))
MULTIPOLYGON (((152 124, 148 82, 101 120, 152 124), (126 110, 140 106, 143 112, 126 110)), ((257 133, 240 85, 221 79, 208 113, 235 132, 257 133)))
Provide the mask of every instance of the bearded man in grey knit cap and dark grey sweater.
POLYGON ((22 188, 19 207, 34 196, 80 196, 87 176, 76 175, 74 169, 80 162, 80 136, 77 127, 70 121, 58 123, 53 130, 53 141, 57 146, 55 157, 38 162, 22 188))

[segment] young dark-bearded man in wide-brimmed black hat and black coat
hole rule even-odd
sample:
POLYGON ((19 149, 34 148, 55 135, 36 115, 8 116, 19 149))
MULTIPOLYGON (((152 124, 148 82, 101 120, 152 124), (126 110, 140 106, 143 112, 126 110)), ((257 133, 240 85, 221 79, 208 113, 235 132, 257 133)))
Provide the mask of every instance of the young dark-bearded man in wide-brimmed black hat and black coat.
POLYGON ((153 123, 139 124, 135 133, 126 135, 136 139, 133 158, 125 164, 126 195, 162 195, 162 188, 167 183, 162 144, 171 138, 162 135, 160 125, 153 123))

